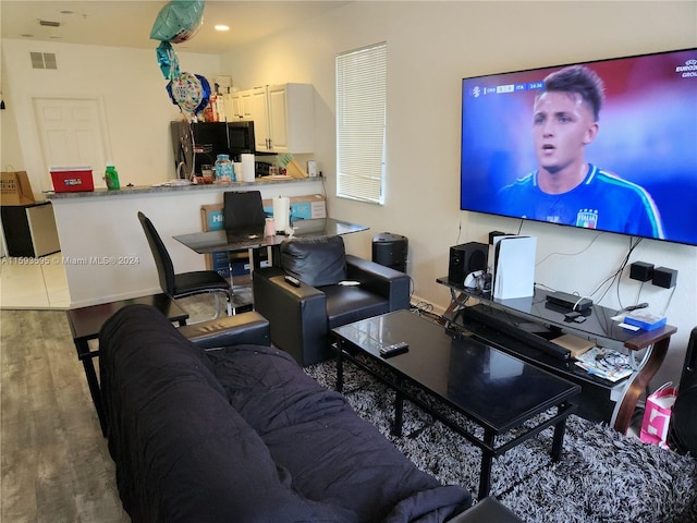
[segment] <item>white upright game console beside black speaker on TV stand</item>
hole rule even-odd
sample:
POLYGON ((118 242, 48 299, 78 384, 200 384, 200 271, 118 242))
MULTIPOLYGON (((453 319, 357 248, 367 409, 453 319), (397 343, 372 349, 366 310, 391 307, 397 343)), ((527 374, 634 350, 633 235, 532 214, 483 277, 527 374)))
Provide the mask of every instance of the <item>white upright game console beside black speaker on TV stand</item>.
POLYGON ((494 239, 493 297, 510 300, 535 294, 535 236, 494 239))

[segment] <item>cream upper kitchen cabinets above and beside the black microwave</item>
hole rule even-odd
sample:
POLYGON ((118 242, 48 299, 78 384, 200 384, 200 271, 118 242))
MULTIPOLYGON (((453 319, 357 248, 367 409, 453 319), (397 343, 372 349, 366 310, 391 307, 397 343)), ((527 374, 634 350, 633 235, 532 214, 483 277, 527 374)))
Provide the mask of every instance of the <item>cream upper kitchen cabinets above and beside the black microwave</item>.
POLYGON ((311 84, 255 87, 230 95, 228 119, 254 121, 256 150, 307 154, 315 150, 315 90, 311 84))

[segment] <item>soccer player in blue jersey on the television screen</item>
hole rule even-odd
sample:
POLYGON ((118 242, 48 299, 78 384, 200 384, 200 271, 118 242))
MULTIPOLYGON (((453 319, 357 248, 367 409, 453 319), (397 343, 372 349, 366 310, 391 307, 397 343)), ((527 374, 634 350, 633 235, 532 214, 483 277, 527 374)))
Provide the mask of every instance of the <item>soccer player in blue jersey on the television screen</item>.
POLYGON ((598 135, 602 99, 602 80, 586 66, 571 65, 545 78, 533 111, 539 168, 503 187, 500 204, 522 218, 663 238, 646 190, 585 160, 586 145, 598 135))

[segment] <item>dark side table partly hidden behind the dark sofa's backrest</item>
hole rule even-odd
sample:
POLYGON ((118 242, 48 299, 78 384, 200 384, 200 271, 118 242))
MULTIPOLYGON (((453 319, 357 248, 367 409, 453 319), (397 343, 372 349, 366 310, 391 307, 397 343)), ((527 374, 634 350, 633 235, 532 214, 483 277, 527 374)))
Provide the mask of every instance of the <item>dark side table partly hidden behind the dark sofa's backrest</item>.
POLYGON ((99 337, 101 326, 120 308, 132 304, 151 305, 160 311, 170 321, 176 321, 180 326, 186 325, 188 314, 180 307, 174 299, 167 294, 155 294, 151 296, 134 297, 122 300, 120 302, 102 303, 101 305, 91 305, 88 307, 73 308, 68 311, 68 323, 73 335, 73 342, 77 350, 77 360, 85 367, 85 376, 89 386, 91 401, 95 404, 101 433, 107 435, 107 425, 103 406, 101 404, 101 391, 99 389, 99 380, 95 372, 94 357, 99 355, 99 349, 90 350, 89 340, 96 340, 99 337))

